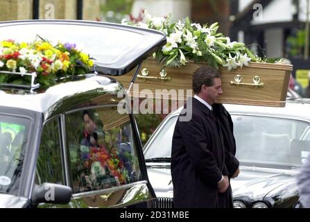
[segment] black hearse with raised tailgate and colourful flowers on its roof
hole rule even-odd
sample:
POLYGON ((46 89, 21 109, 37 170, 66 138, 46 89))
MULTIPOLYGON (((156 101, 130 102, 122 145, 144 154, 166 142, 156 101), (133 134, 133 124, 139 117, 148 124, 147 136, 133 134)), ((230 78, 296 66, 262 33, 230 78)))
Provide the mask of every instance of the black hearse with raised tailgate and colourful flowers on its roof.
POLYGON ((58 20, 1 22, 0 33, 0 41, 71 42, 96 65, 48 89, 0 84, 0 207, 150 206, 155 193, 135 118, 118 112, 123 86, 103 74, 126 74, 166 44, 165 35, 58 20))

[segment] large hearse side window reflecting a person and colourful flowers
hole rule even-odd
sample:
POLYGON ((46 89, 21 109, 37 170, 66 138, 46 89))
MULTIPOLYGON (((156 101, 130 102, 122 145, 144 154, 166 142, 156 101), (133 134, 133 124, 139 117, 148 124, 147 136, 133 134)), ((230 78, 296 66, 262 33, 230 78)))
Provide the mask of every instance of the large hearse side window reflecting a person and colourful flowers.
POLYGON ((117 107, 67 114, 66 137, 74 193, 141 180, 129 115, 117 107))

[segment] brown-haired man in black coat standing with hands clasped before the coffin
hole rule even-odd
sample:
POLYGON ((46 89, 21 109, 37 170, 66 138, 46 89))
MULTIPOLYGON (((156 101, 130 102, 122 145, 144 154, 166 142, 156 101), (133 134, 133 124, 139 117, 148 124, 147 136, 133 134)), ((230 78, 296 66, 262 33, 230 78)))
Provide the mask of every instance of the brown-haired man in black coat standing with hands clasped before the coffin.
POLYGON ((212 67, 200 67, 193 73, 193 92, 173 133, 173 203, 175 207, 231 207, 227 150, 212 111, 212 104, 223 93, 221 74, 212 67), (191 119, 182 121, 188 112, 191 119))

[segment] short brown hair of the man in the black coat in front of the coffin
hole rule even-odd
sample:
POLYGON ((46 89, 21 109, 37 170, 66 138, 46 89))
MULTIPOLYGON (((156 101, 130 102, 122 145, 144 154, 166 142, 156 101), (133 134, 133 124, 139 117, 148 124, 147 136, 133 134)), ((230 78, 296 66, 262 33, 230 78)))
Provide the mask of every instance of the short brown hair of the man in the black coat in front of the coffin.
POLYGON ((203 85, 212 86, 214 78, 221 78, 221 72, 214 67, 200 67, 193 72, 193 93, 200 92, 203 85))

